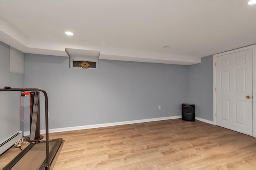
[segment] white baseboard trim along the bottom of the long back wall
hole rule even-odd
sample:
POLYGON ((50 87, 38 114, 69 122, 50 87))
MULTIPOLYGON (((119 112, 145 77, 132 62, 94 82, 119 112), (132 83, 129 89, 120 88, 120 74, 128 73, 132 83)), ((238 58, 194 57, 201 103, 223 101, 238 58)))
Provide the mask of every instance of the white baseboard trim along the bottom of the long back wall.
MULTIPOLYGON (((169 116, 169 117, 158 117, 158 118, 153 118, 153 119, 121 121, 121 122, 115 122, 115 123, 103 123, 103 124, 97 124, 97 125, 63 127, 63 128, 49 129, 49 133, 64 132, 64 131, 75 131, 75 130, 92 129, 92 128, 98 128, 98 127, 117 126, 117 125, 128 125, 128 124, 134 124, 134 123, 143 123, 143 122, 160 121, 160 120, 168 120, 168 119, 180 119, 180 118, 181 118, 181 115, 179 115, 179 116, 169 116)), ((46 133, 45 130, 40 130, 40 134, 44 134, 44 133, 46 133)), ((30 135, 30 131, 25 131, 24 136, 28 136, 28 135, 30 135)))

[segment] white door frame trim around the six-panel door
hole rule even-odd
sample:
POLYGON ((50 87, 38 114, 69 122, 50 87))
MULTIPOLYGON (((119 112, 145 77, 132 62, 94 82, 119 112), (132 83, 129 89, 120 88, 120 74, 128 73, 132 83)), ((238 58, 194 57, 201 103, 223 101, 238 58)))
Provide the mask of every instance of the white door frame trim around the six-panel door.
POLYGON ((216 125, 216 57, 248 49, 252 49, 252 136, 256 137, 256 45, 213 55, 213 123, 216 125))

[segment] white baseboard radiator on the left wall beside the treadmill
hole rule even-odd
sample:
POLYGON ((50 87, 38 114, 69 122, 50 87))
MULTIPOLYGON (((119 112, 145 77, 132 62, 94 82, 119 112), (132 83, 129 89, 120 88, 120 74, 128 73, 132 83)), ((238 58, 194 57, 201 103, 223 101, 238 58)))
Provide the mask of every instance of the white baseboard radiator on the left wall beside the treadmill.
POLYGON ((4 141, 0 143, 0 154, 9 149, 12 145, 14 145, 14 141, 22 138, 22 131, 17 131, 10 137, 6 138, 4 141))

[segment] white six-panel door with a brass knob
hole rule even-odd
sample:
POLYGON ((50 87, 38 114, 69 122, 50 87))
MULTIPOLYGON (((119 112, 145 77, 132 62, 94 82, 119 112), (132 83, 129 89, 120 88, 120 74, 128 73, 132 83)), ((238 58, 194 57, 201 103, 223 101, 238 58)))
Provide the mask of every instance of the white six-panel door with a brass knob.
POLYGON ((216 125, 252 136, 252 49, 216 57, 216 125))

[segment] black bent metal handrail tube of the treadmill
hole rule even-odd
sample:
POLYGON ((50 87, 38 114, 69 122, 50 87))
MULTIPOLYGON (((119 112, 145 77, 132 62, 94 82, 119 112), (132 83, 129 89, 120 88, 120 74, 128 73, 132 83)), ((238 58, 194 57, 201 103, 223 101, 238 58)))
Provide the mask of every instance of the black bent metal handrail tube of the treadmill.
POLYGON ((40 91, 44 93, 45 99, 45 131, 46 131, 46 170, 50 170, 50 159, 49 159, 49 127, 48 127, 48 96, 45 90, 41 88, 0 88, 0 92, 8 92, 8 91, 40 91))

